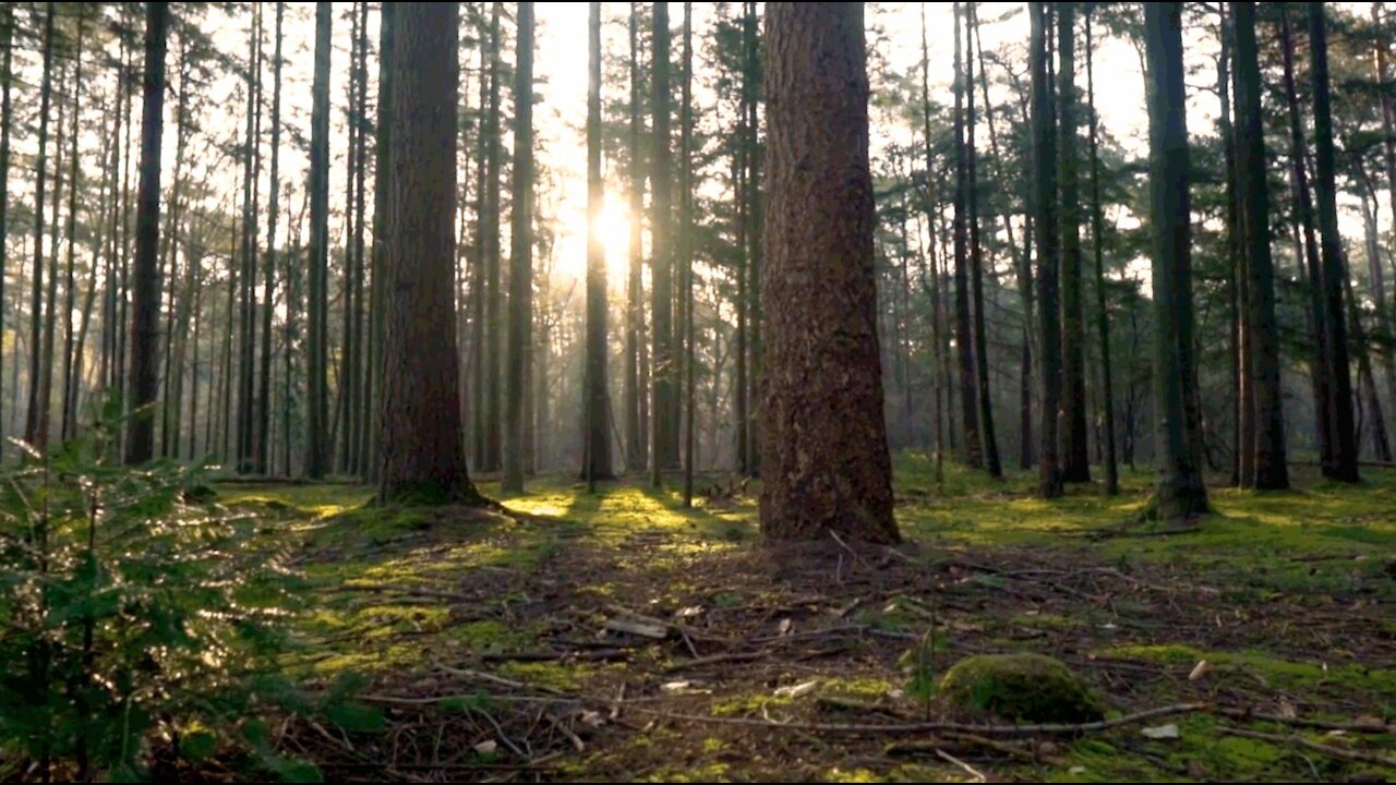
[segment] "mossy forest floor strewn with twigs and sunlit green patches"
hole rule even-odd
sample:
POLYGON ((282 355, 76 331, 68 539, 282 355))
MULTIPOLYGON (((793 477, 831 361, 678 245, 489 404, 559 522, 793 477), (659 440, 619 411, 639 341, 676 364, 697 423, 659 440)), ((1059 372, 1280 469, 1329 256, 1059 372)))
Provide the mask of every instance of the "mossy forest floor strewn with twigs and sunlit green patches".
POLYGON ((1396 471, 1216 490, 1196 532, 1120 531, 1150 482, 1044 503, 1032 476, 949 467, 941 492, 902 455, 895 550, 762 548, 740 489, 684 510, 639 480, 484 482, 514 515, 363 508, 362 486, 221 493, 320 587, 292 668, 359 673, 383 712, 283 725, 327 779, 1396 778, 1396 471), (1019 651, 1125 722, 1019 733, 917 687, 1019 651), (1152 710, 1175 714, 1128 721, 1152 710))

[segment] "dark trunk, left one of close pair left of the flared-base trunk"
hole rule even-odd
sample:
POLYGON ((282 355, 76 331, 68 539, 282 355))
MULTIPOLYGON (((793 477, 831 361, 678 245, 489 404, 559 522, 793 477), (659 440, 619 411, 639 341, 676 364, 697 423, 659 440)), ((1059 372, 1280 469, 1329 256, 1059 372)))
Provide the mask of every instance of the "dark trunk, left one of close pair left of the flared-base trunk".
POLYGON ((1057 411, 1061 405, 1061 323, 1057 313, 1057 122, 1048 73, 1051 21, 1046 3, 1030 3, 1032 14, 1032 138, 1033 138, 1033 228, 1037 232, 1037 314, 1041 423, 1039 427, 1037 494, 1055 499, 1062 493, 1058 465, 1057 411))

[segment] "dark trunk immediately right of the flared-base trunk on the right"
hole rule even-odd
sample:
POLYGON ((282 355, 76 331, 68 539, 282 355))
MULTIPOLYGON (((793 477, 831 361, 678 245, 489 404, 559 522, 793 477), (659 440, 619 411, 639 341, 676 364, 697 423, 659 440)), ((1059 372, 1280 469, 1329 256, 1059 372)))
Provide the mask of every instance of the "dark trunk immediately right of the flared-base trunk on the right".
POLYGON ((1255 3, 1233 3, 1235 21, 1235 151, 1240 225, 1245 237, 1247 362, 1255 411, 1254 479, 1262 490, 1290 486, 1284 458, 1284 399, 1280 387, 1280 338, 1275 318, 1275 268, 1270 263, 1270 193, 1265 170, 1265 122, 1261 113, 1261 67, 1255 45, 1255 3))

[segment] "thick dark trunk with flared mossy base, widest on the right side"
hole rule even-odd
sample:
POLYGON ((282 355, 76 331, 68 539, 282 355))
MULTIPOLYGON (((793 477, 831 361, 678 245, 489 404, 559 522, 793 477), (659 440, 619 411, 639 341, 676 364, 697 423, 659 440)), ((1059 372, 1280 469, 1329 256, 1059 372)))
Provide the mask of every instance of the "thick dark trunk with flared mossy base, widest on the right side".
POLYGON ((1192 249, 1188 129, 1182 85, 1182 3, 1145 6, 1149 63, 1149 218, 1153 236, 1154 444, 1159 482, 1152 511, 1187 524, 1208 511, 1202 482, 1192 359, 1192 249))

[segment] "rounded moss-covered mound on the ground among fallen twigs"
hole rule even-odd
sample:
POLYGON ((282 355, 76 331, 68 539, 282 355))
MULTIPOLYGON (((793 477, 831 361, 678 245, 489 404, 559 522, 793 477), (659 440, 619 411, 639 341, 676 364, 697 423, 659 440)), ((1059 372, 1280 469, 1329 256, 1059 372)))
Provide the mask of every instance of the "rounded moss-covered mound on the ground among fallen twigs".
POLYGON ((1040 654, 981 654, 945 672, 941 691, 962 708, 1020 722, 1093 722, 1100 704, 1061 661, 1040 654))

